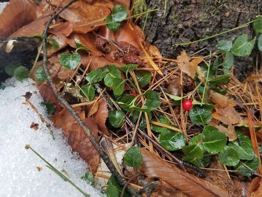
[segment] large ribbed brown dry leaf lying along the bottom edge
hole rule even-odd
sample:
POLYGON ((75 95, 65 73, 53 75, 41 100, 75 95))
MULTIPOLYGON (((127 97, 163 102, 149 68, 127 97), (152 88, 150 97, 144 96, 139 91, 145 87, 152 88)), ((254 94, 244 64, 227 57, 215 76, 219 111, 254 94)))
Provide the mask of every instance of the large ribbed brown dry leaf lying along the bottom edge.
POLYGON ((210 182, 188 174, 166 163, 163 159, 145 149, 141 149, 143 162, 140 171, 149 180, 160 179, 188 196, 227 197, 228 192, 210 182))

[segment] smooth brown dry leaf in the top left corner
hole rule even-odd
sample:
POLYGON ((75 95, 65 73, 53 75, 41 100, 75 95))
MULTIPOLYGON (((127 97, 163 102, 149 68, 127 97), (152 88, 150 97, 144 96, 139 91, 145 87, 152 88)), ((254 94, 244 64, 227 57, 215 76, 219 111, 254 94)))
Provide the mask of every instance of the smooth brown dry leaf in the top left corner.
POLYGON ((0 14, 0 38, 10 36, 36 18, 34 5, 28 0, 10 0, 0 14))

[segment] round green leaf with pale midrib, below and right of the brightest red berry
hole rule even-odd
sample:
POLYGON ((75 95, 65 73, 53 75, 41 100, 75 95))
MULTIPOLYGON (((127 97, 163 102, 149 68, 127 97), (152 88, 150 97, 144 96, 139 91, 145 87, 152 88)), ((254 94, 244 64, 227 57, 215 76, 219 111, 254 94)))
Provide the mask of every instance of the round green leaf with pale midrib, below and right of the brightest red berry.
POLYGON ((212 131, 203 139, 203 147, 208 153, 219 153, 226 145, 226 136, 222 132, 212 131))

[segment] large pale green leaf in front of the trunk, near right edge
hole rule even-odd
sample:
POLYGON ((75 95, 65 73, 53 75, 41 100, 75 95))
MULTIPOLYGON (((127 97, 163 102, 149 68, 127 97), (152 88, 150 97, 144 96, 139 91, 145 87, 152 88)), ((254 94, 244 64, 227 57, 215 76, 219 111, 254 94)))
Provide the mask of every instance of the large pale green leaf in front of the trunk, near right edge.
POLYGON ((242 34, 234 42, 231 48, 231 52, 237 56, 248 56, 250 55, 253 49, 255 41, 256 41, 256 38, 248 42, 248 35, 242 34))

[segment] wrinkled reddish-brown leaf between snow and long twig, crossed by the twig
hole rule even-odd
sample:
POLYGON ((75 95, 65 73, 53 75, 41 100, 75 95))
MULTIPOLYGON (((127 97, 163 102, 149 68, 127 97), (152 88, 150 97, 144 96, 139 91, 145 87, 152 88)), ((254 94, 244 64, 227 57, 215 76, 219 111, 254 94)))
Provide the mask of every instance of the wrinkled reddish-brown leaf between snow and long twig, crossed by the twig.
MULTIPOLYGON (((85 112, 81 107, 75 108, 75 111, 81 119, 83 119, 85 125, 91 130, 95 138, 97 138, 97 124, 94 123, 92 118, 85 118, 85 112)), ((63 109, 50 119, 54 122, 55 127, 61 128, 65 132, 65 137, 68 140, 68 144, 72 147, 72 150, 79 153, 80 157, 91 166, 92 172, 95 173, 100 162, 99 153, 93 147, 89 138, 80 128, 71 113, 67 109, 63 109)))

